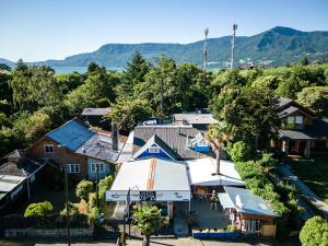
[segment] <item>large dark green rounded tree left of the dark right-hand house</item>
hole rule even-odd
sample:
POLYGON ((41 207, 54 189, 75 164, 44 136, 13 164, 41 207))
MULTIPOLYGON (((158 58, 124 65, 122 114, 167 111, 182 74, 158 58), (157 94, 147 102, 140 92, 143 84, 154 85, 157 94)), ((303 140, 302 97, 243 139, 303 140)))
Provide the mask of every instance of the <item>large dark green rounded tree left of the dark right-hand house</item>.
POLYGON ((269 89, 225 87, 215 101, 221 103, 212 105, 214 116, 227 124, 232 139, 259 149, 278 137, 279 104, 269 89))

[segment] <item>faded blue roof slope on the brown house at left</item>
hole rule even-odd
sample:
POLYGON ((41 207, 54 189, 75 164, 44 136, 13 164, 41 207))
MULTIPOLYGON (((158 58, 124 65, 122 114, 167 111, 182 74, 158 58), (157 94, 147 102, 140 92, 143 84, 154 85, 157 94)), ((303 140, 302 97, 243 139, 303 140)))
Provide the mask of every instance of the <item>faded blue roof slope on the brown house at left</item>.
POLYGON ((85 125, 72 119, 46 136, 67 149, 75 151, 93 134, 94 132, 85 125))

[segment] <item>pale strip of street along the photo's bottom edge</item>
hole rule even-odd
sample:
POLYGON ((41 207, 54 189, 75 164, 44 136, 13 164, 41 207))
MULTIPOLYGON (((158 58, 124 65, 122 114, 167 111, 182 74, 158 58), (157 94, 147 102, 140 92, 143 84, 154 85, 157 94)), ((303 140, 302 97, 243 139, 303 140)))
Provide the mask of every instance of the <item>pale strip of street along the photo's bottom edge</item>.
MULTIPOLYGON (((67 246, 63 243, 48 242, 48 243, 34 243, 34 242, 4 242, 0 239, 1 246, 67 246)), ((115 246, 114 242, 87 242, 87 243, 72 243, 73 246, 115 246)), ((301 246, 295 242, 279 243, 279 242, 215 242, 215 241, 198 241, 194 238, 178 238, 178 239, 153 239, 151 246, 301 246)), ((127 246, 141 246, 141 241, 128 241, 127 246)))

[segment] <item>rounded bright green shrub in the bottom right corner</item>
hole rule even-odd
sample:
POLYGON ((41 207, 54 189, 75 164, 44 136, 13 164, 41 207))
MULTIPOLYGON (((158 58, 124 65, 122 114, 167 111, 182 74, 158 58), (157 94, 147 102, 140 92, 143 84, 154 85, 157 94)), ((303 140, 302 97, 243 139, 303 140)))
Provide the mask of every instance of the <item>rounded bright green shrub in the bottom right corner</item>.
POLYGON ((328 245, 328 222, 320 216, 307 220, 300 233, 300 241, 303 246, 328 245))

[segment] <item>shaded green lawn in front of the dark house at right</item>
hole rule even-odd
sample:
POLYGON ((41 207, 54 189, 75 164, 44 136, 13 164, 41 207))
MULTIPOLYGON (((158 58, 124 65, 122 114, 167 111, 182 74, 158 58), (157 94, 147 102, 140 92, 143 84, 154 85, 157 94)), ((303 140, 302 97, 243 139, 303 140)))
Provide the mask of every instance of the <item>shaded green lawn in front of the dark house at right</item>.
POLYGON ((295 175, 328 203, 328 154, 311 160, 290 160, 295 175))

